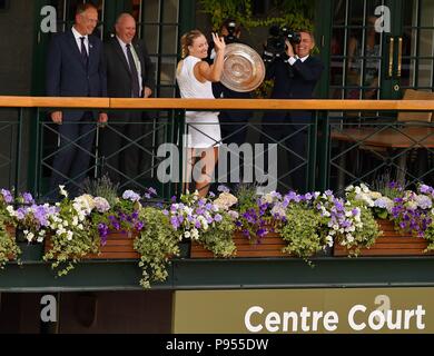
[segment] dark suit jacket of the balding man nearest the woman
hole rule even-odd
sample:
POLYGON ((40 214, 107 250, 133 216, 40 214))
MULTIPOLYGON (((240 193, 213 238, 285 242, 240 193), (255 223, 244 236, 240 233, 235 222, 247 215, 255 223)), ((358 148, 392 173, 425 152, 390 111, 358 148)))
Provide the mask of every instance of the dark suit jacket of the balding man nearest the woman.
MULTIPOLYGON (((132 46, 140 60, 142 86, 154 91, 154 66, 145 43, 134 41, 132 46)), ((131 72, 122 48, 116 37, 105 43, 105 63, 107 69, 107 92, 112 98, 131 97, 131 72)))

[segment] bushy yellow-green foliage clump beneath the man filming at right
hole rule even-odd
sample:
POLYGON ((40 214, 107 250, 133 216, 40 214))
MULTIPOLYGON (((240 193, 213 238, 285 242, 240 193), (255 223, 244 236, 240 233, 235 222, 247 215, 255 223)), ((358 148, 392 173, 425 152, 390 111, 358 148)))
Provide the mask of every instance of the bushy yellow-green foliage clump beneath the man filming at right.
POLYGON ((319 214, 304 205, 292 205, 286 212, 287 222, 278 230, 287 243, 284 253, 302 257, 317 254, 325 246, 324 234, 320 234, 319 214))

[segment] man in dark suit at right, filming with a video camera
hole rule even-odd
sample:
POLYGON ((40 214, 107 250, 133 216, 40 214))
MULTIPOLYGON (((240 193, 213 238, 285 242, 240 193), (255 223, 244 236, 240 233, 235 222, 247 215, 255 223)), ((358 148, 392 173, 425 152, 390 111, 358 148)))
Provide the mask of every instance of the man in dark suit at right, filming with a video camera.
MULTIPOLYGON (((313 91, 324 66, 318 58, 310 56, 315 47, 309 31, 300 31, 300 42, 293 44, 286 40, 286 59, 276 58, 267 66, 266 79, 274 80, 272 99, 312 99, 313 91)), ((263 142, 278 144, 279 151, 289 156, 290 182, 283 179, 285 188, 304 191, 307 180, 307 132, 312 122, 309 111, 268 111, 263 120, 263 142)), ((278 177, 285 176, 278 169, 278 177)), ((276 177, 276 178, 278 178, 276 177)))

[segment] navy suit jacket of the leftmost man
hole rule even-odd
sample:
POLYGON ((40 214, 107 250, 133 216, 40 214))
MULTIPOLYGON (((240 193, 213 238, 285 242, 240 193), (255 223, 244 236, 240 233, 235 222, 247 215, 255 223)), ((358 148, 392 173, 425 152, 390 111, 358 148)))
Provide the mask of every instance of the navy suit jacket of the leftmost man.
MULTIPOLYGON (((102 43, 90 34, 89 60, 80 57, 72 30, 55 34, 47 57, 46 90, 49 97, 107 97, 102 43)), ((63 111, 63 119, 76 119, 83 111, 63 111)))

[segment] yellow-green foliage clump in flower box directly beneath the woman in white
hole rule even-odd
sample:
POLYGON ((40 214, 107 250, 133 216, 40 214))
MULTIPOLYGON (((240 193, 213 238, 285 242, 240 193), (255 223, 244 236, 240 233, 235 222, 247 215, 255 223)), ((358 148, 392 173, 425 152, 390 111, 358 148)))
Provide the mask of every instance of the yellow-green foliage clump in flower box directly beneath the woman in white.
POLYGON ((200 234, 197 241, 210 250, 215 257, 230 257, 236 250, 233 240, 235 224, 227 212, 223 211, 220 215, 223 220, 218 224, 213 222, 207 231, 200 234))

